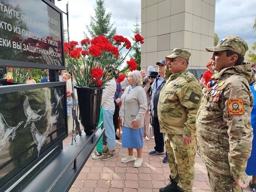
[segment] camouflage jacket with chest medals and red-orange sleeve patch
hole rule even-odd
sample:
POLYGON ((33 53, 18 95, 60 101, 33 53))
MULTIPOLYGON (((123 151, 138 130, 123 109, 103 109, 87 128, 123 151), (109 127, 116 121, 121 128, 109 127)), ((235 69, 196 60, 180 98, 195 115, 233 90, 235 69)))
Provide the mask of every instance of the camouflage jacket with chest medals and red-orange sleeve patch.
POLYGON ((214 74, 196 118, 198 153, 210 169, 241 179, 252 148, 250 65, 214 74))

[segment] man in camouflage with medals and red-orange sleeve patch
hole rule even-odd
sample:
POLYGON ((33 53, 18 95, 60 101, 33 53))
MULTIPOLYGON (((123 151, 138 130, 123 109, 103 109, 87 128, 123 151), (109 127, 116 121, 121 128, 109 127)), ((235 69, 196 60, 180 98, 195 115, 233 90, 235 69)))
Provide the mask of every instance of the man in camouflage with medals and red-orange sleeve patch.
POLYGON ((252 148, 251 65, 245 65, 247 44, 238 36, 223 38, 212 52, 216 74, 196 118, 198 154, 206 164, 211 191, 242 191, 252 148))

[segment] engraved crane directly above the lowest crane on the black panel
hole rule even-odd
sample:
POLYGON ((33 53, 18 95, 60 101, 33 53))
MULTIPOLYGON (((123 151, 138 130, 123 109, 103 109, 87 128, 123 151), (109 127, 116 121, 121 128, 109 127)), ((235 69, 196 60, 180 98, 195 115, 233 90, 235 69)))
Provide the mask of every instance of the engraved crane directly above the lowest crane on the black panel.
POLYGON ((24 127, 26 127, 30 123, 30 121, 33 121, 33 122, 38 121, 43 116, 43 115, 37 114, 42 109, 38 109, 37 111, 31 109, 29 102, 28 102, 28 97, 26 97, 25 101, 23 102, 23 109, 24 109, 24 113, 27 117, 27 121, 26 121, 26 124, 24 125, 24 127))

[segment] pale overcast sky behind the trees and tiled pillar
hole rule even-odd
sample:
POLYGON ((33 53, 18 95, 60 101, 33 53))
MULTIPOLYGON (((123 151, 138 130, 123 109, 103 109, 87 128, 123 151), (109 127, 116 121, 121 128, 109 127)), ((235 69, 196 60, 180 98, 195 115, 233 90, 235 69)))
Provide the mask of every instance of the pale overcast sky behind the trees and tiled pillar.
MULTIPOLYGON (((189 0, 187 0, 189 1, 189 0)), ((85 25, 90 24, 90 15, 94 15, 95 0, 55 0, 63 12, 69 4, 70 40, 81 41, 84 38, 85 25)), ((106 13, 111 12, 111 22, 117 27, 117 34, 132 36, 135 18, 141 17, 140 0, 105 0, 106 13)), ((249 46, 256 42, 256 31, 252 26, 256 18, 255 0, 216 0, 215 33, 222 39, 227 35, 241 36, 249 46)), ((66 28, 66 27, 65 27, 66 28)))

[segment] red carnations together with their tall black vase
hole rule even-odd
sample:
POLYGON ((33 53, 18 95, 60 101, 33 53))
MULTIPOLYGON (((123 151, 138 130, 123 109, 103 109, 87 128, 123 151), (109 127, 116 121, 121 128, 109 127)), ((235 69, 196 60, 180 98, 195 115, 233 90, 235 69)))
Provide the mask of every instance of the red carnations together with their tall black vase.
POLYGON ((107 82, 113 78, 122 82, 124 73, 137 69, 133 59, 123 65, 133 46, 143 43, 143 37, 139 34, 134 39, 133 45, 121 35, 113 37, 114 43, 102 35, 91 40, 83 39, 80 47, 75 41, 65 43, 66 61, 74 78, 80 119, 86 134, 92 134, 99 123, 101 96, 107 82), (127 52, 124 57, 120 57, 123 49, 127 49, 127 52))

